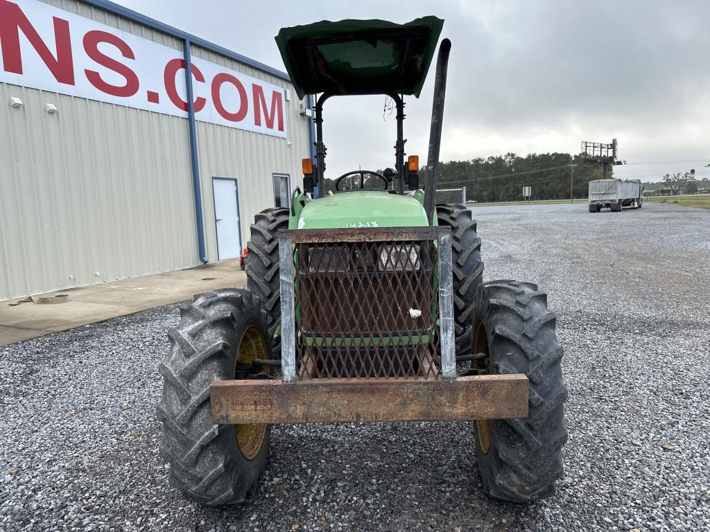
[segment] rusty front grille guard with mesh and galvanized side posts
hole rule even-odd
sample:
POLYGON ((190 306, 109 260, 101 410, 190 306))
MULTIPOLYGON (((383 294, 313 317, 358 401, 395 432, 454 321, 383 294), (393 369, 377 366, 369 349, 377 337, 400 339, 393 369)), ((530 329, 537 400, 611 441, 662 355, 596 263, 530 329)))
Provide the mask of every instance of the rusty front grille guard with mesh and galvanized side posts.
POLYGON ((449 228, 280 231, 279 253, 284 381, 456 377, 449 228))

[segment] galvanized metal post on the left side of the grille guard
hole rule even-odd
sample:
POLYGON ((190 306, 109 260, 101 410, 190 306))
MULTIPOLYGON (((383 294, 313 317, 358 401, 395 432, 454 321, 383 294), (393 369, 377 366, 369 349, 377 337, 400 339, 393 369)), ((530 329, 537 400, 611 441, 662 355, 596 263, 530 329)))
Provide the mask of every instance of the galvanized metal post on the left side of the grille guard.
POLYGON ((296 312, 293 238, 290 235, 279 235, 278 256, 281 284, 281 374, 284 382, 293 382, 296 379, 296 312))

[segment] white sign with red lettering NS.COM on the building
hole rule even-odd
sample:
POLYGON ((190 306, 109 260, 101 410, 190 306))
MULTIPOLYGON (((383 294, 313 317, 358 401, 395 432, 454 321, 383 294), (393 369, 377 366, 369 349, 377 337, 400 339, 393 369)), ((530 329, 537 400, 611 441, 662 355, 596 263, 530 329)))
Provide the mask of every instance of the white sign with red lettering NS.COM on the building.
MULTIPOLYGON (((238 68, 234 66, 233 68, 238 68)), ((40 0, 0 0, 0 83, 286 138, 283 87, 40 0), (201 94, 201 96, 197 96, 201 94)))

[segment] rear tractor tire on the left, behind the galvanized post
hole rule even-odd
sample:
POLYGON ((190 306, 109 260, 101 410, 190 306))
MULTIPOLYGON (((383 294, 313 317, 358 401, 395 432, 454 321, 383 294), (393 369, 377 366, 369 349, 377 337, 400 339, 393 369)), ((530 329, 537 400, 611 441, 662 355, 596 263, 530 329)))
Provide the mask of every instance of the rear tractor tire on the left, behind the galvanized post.
POLYGON ((275 207, 254 216, 246 247, 246 287, 263 299, 266 309, 269 352, 281 358, 281 285, 278 275, 278 231, 288 229, 288 209, 275 207))

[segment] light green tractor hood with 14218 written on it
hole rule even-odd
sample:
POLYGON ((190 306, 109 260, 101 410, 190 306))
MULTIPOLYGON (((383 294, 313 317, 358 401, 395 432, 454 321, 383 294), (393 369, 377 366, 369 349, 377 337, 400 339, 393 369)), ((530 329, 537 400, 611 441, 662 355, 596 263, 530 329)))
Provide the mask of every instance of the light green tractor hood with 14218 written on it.
POLYGON ((299 229, 427 226, 424 206, 412 196, 371 190, 342 192, 311 201, 299 229))

